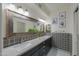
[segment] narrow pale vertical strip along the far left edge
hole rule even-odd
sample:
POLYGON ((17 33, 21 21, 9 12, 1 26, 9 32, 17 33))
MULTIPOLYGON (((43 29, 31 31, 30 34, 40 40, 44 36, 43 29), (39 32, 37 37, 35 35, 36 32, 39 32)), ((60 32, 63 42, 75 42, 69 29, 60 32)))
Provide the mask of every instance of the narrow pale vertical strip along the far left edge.
POLYGON ((0 3, 0 56, 2 55, 2 5, 0 3))

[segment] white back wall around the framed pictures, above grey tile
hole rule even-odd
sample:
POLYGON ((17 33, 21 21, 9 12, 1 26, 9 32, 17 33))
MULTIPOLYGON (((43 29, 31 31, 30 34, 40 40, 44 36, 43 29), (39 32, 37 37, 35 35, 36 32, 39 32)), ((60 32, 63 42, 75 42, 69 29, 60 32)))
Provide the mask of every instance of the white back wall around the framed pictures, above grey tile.
POLYGON ((59 12, 66 11, 66 28, 59 28, 57 25, 51 24, 51 32, 60 32, 63 33, 71 33, 72 34, 72 55, 77 55, 77 37, 75 33, 75 24, 74 24, 74 10, 76 8, 77 4, 70 4, 69 6, 59 7, 55 10, 55 12, 52 14, 51 19, 49 18, 49 23, 52 22, 53 18, 55 16, 58 16, 59 12))

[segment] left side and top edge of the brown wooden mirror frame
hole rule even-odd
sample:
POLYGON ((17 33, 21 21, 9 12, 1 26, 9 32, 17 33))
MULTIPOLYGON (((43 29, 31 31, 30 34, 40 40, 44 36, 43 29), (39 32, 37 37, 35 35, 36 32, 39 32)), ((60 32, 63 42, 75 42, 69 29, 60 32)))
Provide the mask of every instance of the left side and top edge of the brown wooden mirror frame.
MULTIPOLYGON (((9 10, 9 9, 6 9, 5 10, 5 15, 6 15, 6 37, 10 37, 12 36, 14 33, 13 33, 13 15, 11 13, 16 13, 16 14, 19 14, 15 11, 12 11, 12 10, 9 10)), ((28 21, 33 21, 33 22, 38 22, 38 20, 32 18, 32 17, 28 17, 28 16, 25 16, 25 15, 22 15, 22 14, 19 14, 21 16, 24 16, 26 19, 25 20, 28 20, 28 21)))

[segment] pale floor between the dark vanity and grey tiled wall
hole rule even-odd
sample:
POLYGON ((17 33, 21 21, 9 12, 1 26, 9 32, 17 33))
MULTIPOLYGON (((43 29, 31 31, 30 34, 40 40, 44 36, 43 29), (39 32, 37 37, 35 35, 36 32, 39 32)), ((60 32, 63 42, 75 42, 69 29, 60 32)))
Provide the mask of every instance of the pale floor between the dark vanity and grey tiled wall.
POLYGON ((62 49, 51 48, 47 56, 70 56, 70 53, 62 49))

